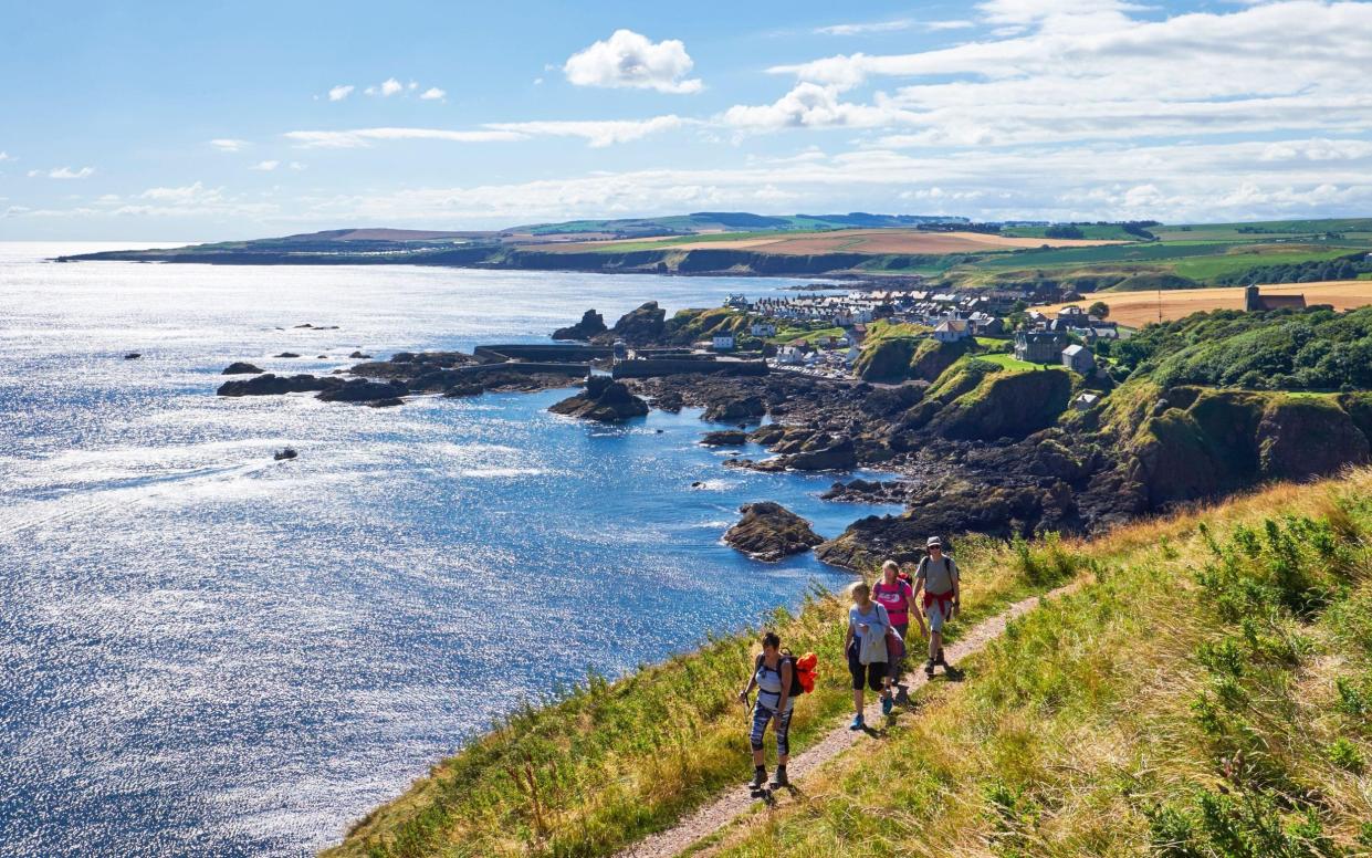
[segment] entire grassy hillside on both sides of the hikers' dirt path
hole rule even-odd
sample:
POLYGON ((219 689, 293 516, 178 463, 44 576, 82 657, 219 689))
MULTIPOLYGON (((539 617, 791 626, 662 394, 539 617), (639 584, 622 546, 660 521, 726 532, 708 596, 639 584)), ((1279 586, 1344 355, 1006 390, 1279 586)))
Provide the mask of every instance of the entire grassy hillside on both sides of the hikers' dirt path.
MULTIPOLYGON (((969 627, 1011 623, 918 717, 724 832, 726 855, 1372 854, 1372 474, 1092 542, 959 546, 969 627), (1294 729, 1299 725, 1298 729, 1294 729), (870 748, 870 751, 868 751, 870 748)), ((804 748, 848 704, 841 605, 768 625, 820 655, 804 748)), ((605 855, 749 769, 749 636, 513 714, 331 855, 605 855)))

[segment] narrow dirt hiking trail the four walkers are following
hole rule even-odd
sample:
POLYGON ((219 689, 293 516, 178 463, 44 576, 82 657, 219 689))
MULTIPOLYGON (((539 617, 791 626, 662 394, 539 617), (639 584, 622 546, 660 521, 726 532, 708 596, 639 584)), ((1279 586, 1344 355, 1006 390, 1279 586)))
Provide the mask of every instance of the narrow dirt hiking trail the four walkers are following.
MULTIPOLYGON (((948 660, 958 664, 967 656, 980 652, 992 640, 1000 637, 1006 630, 1006 623, 1011 619, 1028 614, 1045 599, 1063 596, 1078 586, 1081 586, 1080 581, 1013 603, 1000 614, 973 626, 958 642, 945 647, 948 660)), ((907 663, 912 664, 914 669, 907 671, 904 686, 907 688, 907 693, 912 695, 916 689, 923 688, 929 682, 929 678, 922 669, 922 659, 907 658, 907 663)), ((849 715, 844 715, 842 718, 847 721, 849 715)), ((863 710, 863 719, 868 725, 885 722, 885 715, 881 714, 879 695, 875 695, 875 700, 863 710)), ((786 766, 790 781, 793 784, 800 781, 866 737, 866 729, 849 730, 847 725, 836 726, 805 751, 792 755, 786 766)), ((783 791, 778 791, 778 793, 783 795, 783 791)), ((676 822, 672 828, 649 835, 638 843, 620 850, 616 858, 670 858, 679 855, 702 837, 708 837, 748 813, 760 800, 752 798, 746 785, 733 787, 709 804, 676 822)))

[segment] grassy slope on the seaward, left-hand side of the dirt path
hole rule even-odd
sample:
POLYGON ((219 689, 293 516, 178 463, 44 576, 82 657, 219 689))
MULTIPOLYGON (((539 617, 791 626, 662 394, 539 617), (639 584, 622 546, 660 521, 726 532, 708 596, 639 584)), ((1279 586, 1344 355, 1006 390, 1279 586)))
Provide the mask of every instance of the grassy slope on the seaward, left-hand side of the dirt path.
MULTIPOLYGON (((1056 542, 1011 549, 975 540, 962 541, 958 557, 975 579, 959 629, 1051 589, 1084 561, 1056 542)), ((793 754, 851 707, 845 616, 845 603, 816 592, 799 616, 778 612, 766 623, 796 652, 819 655, 819 686, 792 722, 793 754)), ((546 704, 531 702, 325 854, 608 855, 670 825, 752 772, 734 695, 750 673, 753 638, 713 637, 624 680, 591 677, 546 704)))

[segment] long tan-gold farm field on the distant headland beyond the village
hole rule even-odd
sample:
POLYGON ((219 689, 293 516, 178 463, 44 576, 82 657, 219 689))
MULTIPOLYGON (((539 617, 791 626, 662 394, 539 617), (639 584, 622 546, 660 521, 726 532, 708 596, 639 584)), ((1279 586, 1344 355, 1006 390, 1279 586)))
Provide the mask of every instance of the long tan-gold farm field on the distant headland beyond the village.
POLYGON ((715 235, 652 237, 630 242, 568 242, 546 247, 553 253, 624 253, 632 250, 746 248, 771 254, 815 255, 827 253, 945 254, 995 253, 1032 247, 1099 247, 1120 244, 1099 239, 1041 239, 984 232, 925 232, 919 229, 831 229, 823 232, 723 232, 715 235))

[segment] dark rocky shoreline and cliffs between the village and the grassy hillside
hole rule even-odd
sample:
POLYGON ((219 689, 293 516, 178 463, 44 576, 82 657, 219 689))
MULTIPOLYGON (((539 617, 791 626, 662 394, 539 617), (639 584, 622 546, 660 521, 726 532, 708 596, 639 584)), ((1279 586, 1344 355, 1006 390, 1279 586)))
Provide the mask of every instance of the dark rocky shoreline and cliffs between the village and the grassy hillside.
MULTIPOLYGON (((593 356, 616 342, 671 346, 681 335, 679 317, 664 317, 649 302, 606 327, 600 313, 587 310, 557 335, 598 343, 593 356)), ((779 559, 814 548, 820 560, 852 570, 886 557, 915 560, 936 534, 1093 534, 1179 502, 1266 479, 1329 474, 1372 454, 1372 399, 1358 393, 1316 401, 1281 393, 1163 390, 1144 379, 1131 382, 1129 393, 1117 393, 1106 406, 1077 410, 1070 405, 1073 376, 1052 367, 1008 372, 971 360, 949 365, 936 383, 874 384, 794 372, 696 371, 615 380, 587 376, 594 365, 490 364, 460 351, 429 351, 398 353, 324 376, 279 376, 235 362, 224 371, 230 378, 218 394, 313 393, 328 402, 395 406, 414 394, 471 397, 580 384, 549 410, 619 423, 650 408, 700 408, 704 421, 733 426, 700 438, 707 446, 730 448, 722 467, 889 474, 882 480, 836 482, 822 497, 899 502, 906 507, 900 515, 862 518, 838 537, 819 540, 788 511, 752 504, 726 537, 752 556, 779 559), (740 454, 750 443, 770 454, 740 454)))

